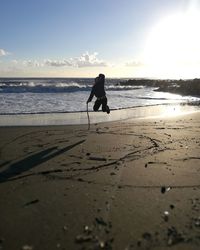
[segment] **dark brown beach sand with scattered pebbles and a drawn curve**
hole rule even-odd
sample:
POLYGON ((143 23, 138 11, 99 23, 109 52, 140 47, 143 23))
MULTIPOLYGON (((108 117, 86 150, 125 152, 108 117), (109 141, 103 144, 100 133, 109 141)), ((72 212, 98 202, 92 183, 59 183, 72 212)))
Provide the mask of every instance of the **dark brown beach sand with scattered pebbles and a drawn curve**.
POLYGON ((199 249, 199 124, 0 128, 0 249, 199 249))

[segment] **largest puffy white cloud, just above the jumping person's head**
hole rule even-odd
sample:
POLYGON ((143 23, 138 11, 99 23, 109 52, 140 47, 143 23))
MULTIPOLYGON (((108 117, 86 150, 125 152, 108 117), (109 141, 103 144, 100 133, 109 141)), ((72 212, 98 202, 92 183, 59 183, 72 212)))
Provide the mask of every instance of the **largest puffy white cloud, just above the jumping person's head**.
POLYGON ((94 52, 93 54, 89 54, 88 52, 83 53, 80 57, 74 57, 70 59, 64 60, 45 60, 44 64, 47 66, 53 67, 76 67, 76 68, 83 68, 83 67, 107 67, 107 63, 103 60, 97 58, 98 53, 94 52))

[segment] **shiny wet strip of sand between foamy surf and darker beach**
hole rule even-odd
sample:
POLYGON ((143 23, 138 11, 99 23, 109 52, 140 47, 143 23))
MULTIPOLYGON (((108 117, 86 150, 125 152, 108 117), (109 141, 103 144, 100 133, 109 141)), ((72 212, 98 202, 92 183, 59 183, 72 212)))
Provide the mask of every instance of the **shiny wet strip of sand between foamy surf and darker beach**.
MULTIPOLYGON (((172 117, 199 112, 199 106, 161 104, 112 110, 110 114, 89 112, 90 123, 111 122, 131 118, 172 117)), ((49 126, 88 124, 87 112, 0 115, 0 126, 49 126)))

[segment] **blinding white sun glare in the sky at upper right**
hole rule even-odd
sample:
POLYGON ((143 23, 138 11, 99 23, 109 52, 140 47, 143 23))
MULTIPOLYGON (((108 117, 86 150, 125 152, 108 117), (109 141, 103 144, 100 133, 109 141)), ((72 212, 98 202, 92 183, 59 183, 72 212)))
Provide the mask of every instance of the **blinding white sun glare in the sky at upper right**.
MULTIPOLYGON (((192 10, 161 20, 144 49, 149 71, 163 77, 190 77, 200 65, 200 13, 192 10)), ((196 72, 198 73, 198 72, 196 72)))

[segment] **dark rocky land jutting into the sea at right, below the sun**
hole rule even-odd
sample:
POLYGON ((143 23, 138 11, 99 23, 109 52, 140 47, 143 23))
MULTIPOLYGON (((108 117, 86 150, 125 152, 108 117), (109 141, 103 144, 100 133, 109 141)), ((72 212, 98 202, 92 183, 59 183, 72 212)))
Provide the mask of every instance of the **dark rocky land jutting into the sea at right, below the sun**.
POLYGON ((123 86, 147 86, 155 87, 155 91, 170 92, 180 95, 191 95, 200 97, 200 79, 191 80, 152 80, 152 79, 130 79, 120 82, 123 86))

